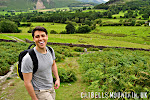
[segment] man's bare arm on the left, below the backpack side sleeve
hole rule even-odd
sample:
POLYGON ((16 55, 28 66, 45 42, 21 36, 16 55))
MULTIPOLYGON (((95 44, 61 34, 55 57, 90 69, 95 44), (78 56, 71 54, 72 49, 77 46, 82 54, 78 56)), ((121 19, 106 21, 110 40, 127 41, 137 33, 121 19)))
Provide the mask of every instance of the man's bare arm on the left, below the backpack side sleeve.
POLYGON ((23 73, 23 78, 24 78, 24 85, 25 85, 29 95, 31 96, 32 100, 38 100, 35 95, 33 85, 31 83, 32 73, 23 73))

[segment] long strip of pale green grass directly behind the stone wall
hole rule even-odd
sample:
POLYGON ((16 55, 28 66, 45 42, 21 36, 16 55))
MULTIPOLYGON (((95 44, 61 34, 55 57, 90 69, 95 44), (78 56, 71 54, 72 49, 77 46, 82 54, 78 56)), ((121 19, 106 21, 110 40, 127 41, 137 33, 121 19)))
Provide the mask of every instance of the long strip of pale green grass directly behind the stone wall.
MULTIPOLYGON (((1 35, 3 34, 0 34, 0 36, 1 35)), ((17 33, 17 34, 7 34, 7 35, 15 36, 22 40, 25 40, 25 38, 27 38, 33 41, 31 37, 31 33, 24 33, 24 34, 17 33)), ((137 41, 136 38, 134 38, 134 40, 137 41)), ((49 34, 48 42, 91 44, 91 45, 97 45, 97 46, 117 46, 117 47, 150 49, 149 45, 142 44, 142 43, 133 43, 134 40, 133 38, 128 39, 124 37, 109 37, 109 36, 102 36, 102 35, 97 35, 97 34, 49 34)), ((143 42, 143 40, 141 41, 143 42)))

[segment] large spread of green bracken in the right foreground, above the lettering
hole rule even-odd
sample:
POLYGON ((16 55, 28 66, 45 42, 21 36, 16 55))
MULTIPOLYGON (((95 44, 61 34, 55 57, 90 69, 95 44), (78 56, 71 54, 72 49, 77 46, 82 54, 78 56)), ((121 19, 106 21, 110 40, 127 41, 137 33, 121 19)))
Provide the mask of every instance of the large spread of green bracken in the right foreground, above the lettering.
POLYGON ((150 89, 149 52, 106 48, 103 52, 82 55, 79 63, 83 81, 92 91, 132 89, 139 93, 150 89))

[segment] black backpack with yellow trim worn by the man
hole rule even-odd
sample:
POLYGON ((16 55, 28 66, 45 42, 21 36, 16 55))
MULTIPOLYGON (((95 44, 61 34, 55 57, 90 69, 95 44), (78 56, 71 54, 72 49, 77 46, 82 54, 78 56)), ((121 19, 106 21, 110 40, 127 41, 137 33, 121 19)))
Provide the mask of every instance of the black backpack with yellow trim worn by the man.
MULTIPOLYGON (((24 57, 27 53, 29 53, 29 55, 30 55, 30 57, 31 57, 31 59, 32 59, 32 61, 33 61, 33 74, 34 74, 34 73, 37 71, 37 69, 38 69, 38 59, 37 59, 37 56, 36 56, 35 51, 33 50, 33 48, 30 49, 32 45, 35 46, 34 43, 30 44, 30 46, 28 47, 27 50, 24 50, 24 51, 22 51, 22 52, 19 54, 18 67, 17 67, 17 74, 18 74, 18 76, 19 76, 22 80, 24 80, 24 79, 23 79, 23 74, 22 74, 22 72, 21 72, 21 63, 22 63, 23 57, 24 57)), ((52 56, 53 56, 53 50, 52 50, 52 48, 49 47, 49 46, 47 46, 47 47, 48 47, 48 49, 50 50, 50 52, 51 52, 51 54, 52 54, 52 56)))

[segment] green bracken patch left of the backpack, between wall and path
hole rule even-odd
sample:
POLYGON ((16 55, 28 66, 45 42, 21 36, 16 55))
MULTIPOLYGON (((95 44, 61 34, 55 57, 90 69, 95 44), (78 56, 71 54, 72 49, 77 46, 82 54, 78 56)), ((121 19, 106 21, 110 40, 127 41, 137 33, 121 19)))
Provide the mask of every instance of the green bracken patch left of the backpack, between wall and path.
POLYGON ((10 66, 18 60, 21 51, 27 49, 25 43, 0 42, 0 76, 10 70, 10 66))

